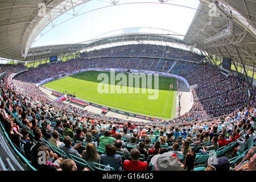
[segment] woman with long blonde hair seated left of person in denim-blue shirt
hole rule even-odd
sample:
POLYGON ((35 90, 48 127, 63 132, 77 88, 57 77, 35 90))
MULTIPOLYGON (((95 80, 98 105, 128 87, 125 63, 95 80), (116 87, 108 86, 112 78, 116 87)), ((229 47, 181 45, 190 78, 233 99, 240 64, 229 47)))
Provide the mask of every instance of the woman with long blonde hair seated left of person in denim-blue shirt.
POLYGON ((86 144, 86 148, 82 151, 82 159, 86 160, 90 167, 94 168, 93 163, 100 163, 101 156, 98 155, 97 149, 93 143, 86 144))

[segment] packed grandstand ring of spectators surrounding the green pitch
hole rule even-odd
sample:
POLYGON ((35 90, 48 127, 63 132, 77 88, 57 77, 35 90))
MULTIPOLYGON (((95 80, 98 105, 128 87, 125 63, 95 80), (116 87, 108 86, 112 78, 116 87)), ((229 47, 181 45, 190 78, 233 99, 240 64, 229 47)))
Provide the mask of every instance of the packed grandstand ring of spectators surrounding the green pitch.
MULTIPOLYGON (((149 45, 142 46, 108 48, 101 53, 95 51, 95 54, 92 51, 79 59, 28 70, 22 64, 1 65, 1 72, 6 72, 1 79, 2 129, 34 169, 60 170, 63 169, 63 161, 72 159, 79 169, 86 170, 104 170, 108 164, 112 170, 159 170, 154 156, 159 157, 165 152, 179 159, 179 168, 182 170, 197 169, 197 166, 198 169, 205 169, 210 157, 206 148, 212 148, 216 143, 216 156, 228 156, 230 169, 248 169, 238 168, 237 165, 248 151, 253 151, 251 158, 255 154, 255 88, 251 90, 246 82, 222 75, 216 67, 178 61, 171 72, 184 77, 189 85, 198 85, 196 89, 192 89, 192 109, 179 118, 154 123, 131 122, 94 114, 61 101, 50 100, 36 86, 36 83, 46 78, 85 68, 124 67, 169 71, 175 63, 162 59, 138 58, 125 66, 123 63, 131 61, 131 58, 125 57, 128 55, 115 57, 120 56, 119 52, 130 52, 131 49, 139 49, 138 53, 144 52, 141 50, 145 47, 150 49, 149 45), (89 55, 97 56, 91 58, 89 55), (155 64, 157 66, 148 67, 155 60, 158 61, 155 64), (166 64, 168 69, 164 69, 166 64), (250 97, 249 92, 252 93, 250 97), (204 122, 207 120, 208 122, 204 122), (28 134, 28 138, 24 138, 24 133, 28 134), (249 138, 241 139, 245 136, 249 138), (39 149, 46 150, 42 146, 52 151, 47 167, 36 163, 36 152, 39 149), (70 146, 73 148, 70 149, 70 146), (133 148, 138 150, 132 150, 133 148), (92 153, 88 152, 86 155, 86 150, 92 153), (133 158, 137 156, 138 166, 133 167, 133 158), (195 164, 186 163, 187 158, 192 158, 195 164)), ((155 47, 152 46, 151 52, 155 47)), ((160 47, 158 50, 161 50, 160 47)), ((150 53, 149 50, 147 52, 150 53)), ((190 58, 195 62, 202 59, 195 55, 190 58)), ((180 55, 179 59, 189 60, 189 57, 180 55)))

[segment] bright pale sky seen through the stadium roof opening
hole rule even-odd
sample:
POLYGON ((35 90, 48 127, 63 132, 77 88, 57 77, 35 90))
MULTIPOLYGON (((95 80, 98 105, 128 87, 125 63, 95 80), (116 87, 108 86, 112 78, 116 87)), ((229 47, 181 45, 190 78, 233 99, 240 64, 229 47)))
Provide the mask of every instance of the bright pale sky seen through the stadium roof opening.
POLYGON ((167 31, 159 30, 164 29, 171 31, 169 34, 185 35, 200 1, 170 0, 165 3, 168 4, 161 4, 158 0, 119 0, 114 6, 110 0, 92 0, 76 7, 77 16, 69 10, 53 20, 55 27, 49 24, 31 47, 81 43, 120 34, 122 30, 115 30, 131 27, 153 28, 140 28, 142 32, 166 34, 167 31), (112 33, 106 34, 108 32, 112 33))

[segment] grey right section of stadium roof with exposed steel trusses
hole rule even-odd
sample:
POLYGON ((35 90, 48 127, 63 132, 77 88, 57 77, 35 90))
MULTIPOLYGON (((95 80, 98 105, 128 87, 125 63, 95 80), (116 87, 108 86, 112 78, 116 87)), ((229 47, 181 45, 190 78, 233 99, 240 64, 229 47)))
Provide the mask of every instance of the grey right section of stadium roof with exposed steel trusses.
POLYGON ((210 54, 231 57, 238 63, 242 59, 246 65, 253 66, 256 1, 221 0, 214 9, 210 3, 214 1, 200 3, 184 41, 210 54))

